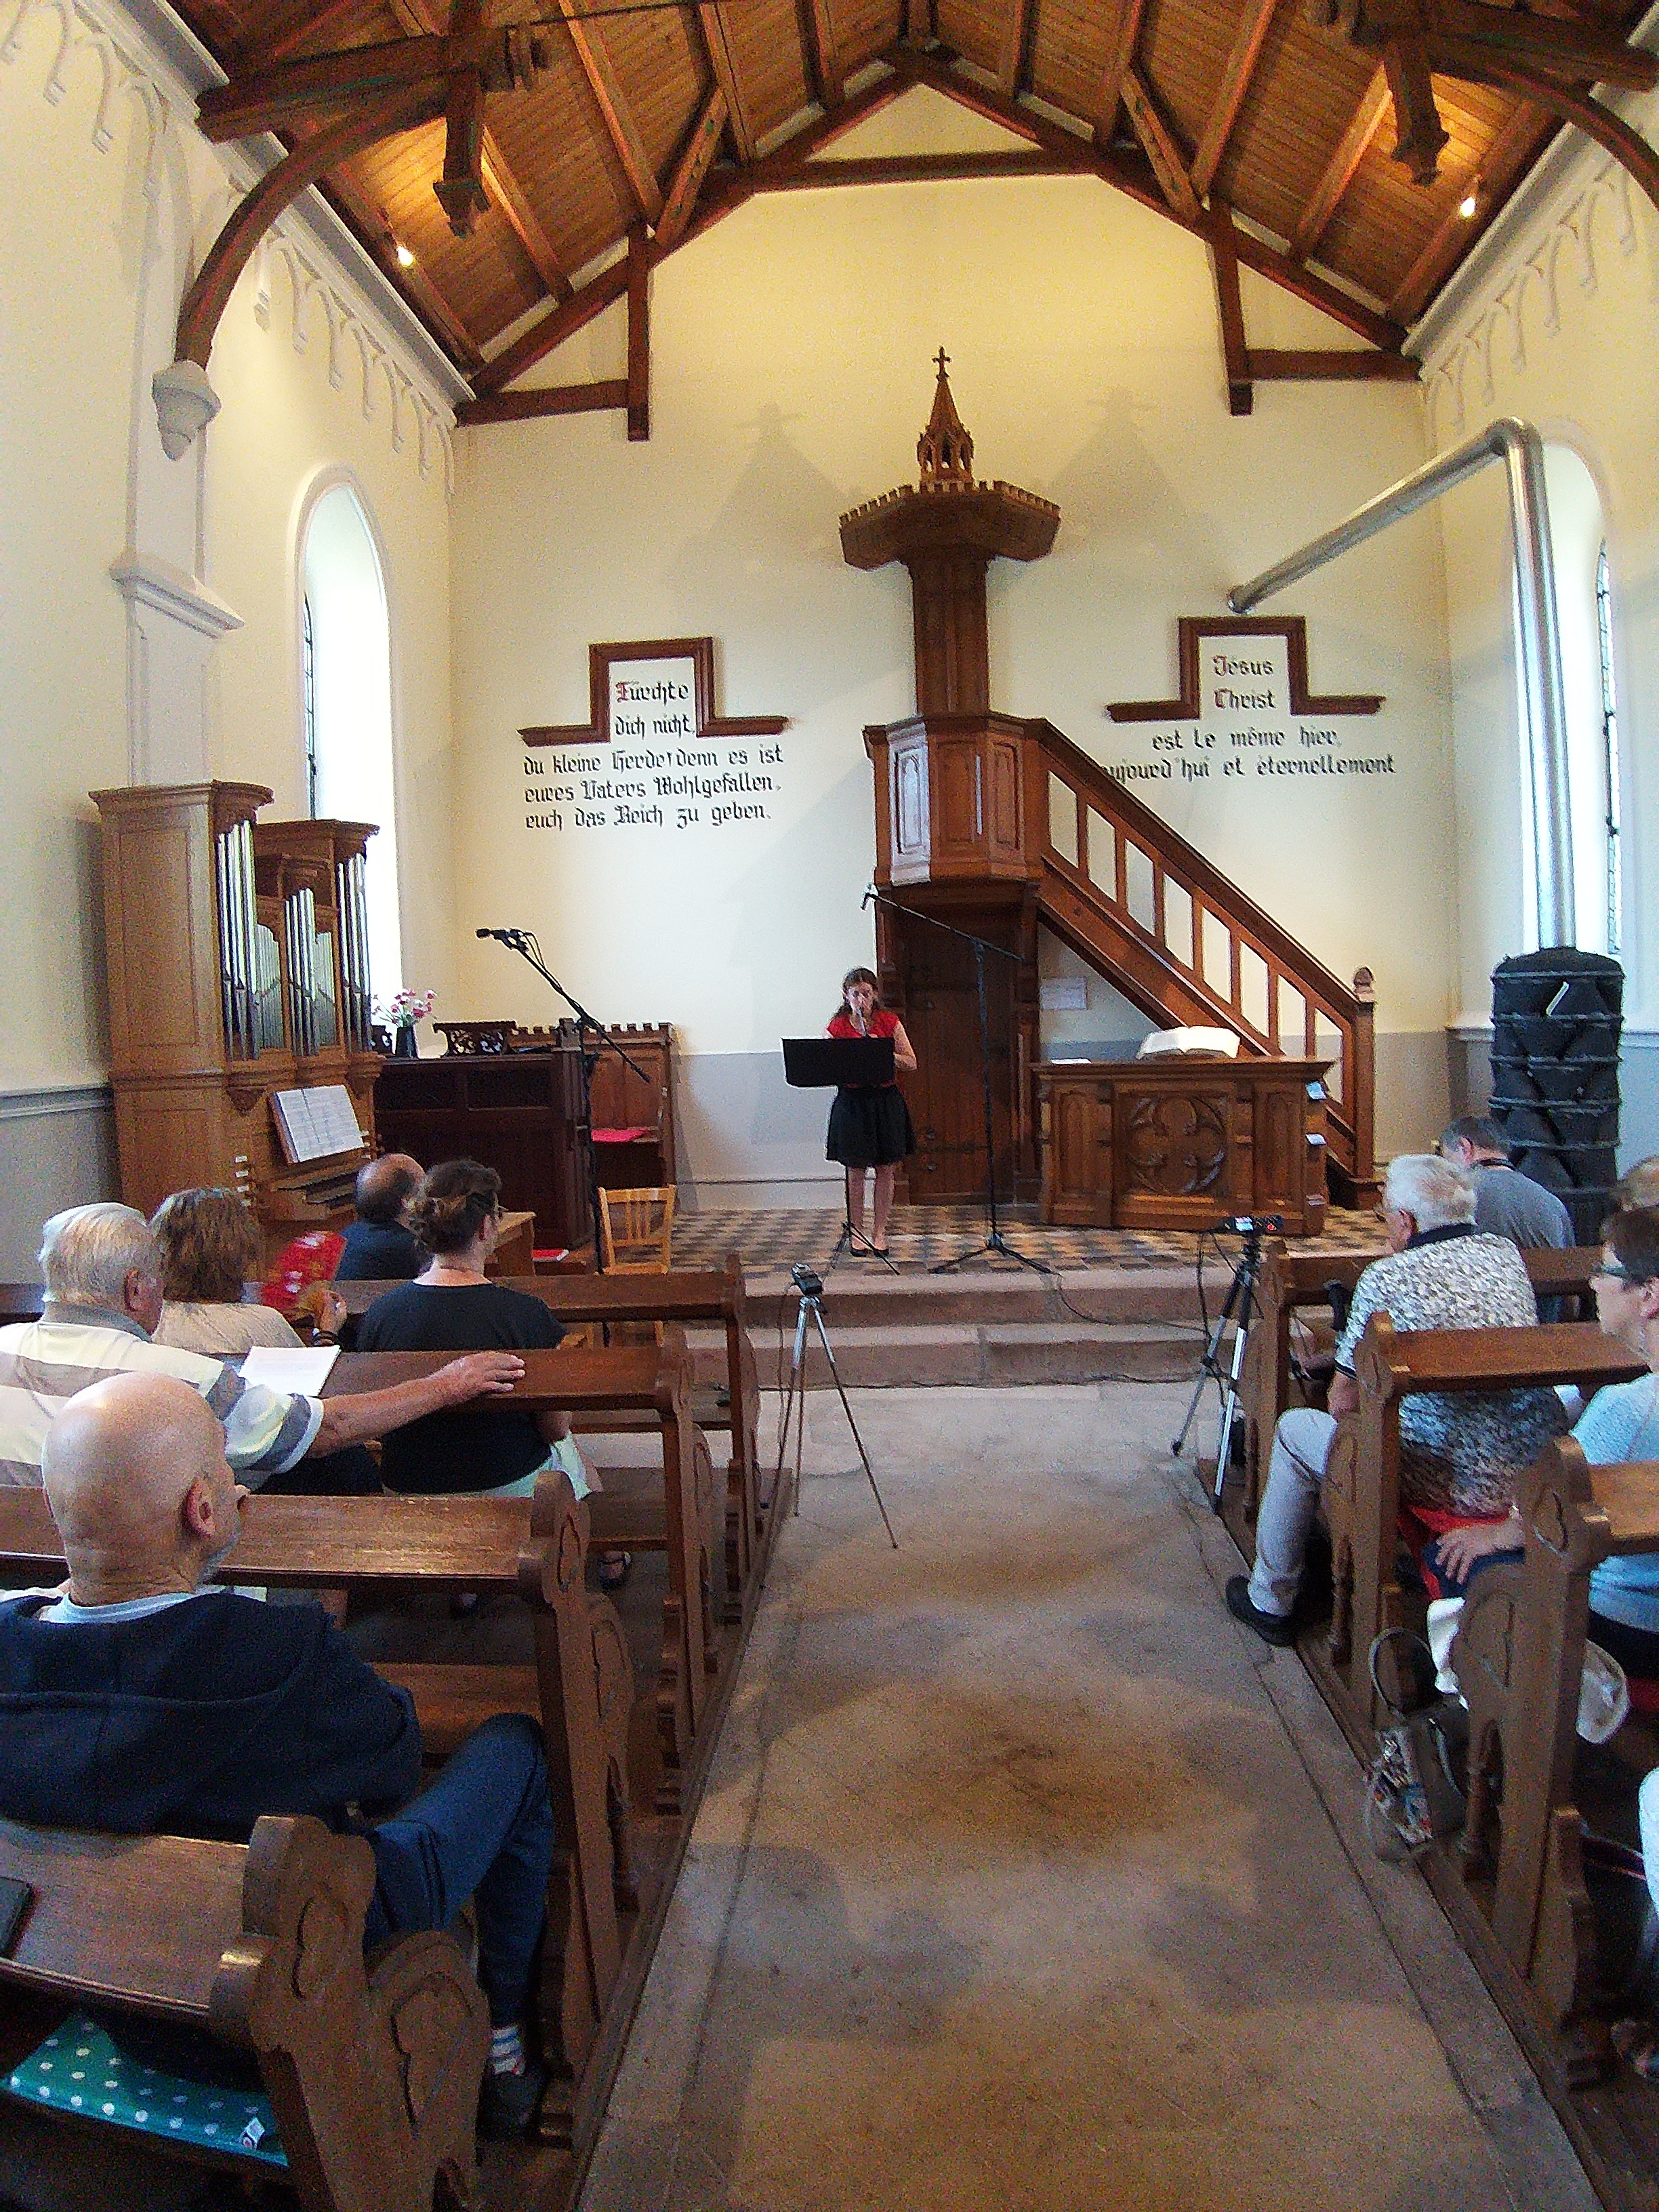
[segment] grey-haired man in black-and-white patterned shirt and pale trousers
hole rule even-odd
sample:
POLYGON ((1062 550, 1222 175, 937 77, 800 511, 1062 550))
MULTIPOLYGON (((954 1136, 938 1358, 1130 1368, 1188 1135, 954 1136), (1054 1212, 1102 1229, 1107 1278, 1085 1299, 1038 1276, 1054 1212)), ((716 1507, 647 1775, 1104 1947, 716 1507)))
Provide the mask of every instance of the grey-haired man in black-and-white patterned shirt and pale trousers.
MULTIPOLYGON (((1336 1345, 1329 1411, 1292 1407, 1274 1429, 1256 1513, 1256 1564, 1228 1582, 1228 1613, 1265 1644, 1296 1639, 1307 1531, 1343 1413, 1360 1402, 1354 1354, 1371 1314, 1396 1329, 1531 1327, 1537 1303, 1526 1265, 1506 1237, 1475 1225, 1469 1177, 1433 1152, 1402 1152, 1383 1183, 1385 1259, 1354 1285, 1336 1345)), ((1509 1517, 1515 1475, 1566 1429, 1555 1391, 1420 1391, 1400 1402, 1402 1526, 1416 1546, 1469 1522, 1509 1517)))

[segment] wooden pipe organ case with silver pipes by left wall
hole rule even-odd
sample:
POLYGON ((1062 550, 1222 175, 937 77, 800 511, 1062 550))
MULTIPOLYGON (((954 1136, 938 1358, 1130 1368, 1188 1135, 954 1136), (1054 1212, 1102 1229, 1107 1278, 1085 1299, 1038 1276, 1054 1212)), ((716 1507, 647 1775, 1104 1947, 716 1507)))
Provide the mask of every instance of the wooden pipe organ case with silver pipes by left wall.
POLYGON ((257 783, 93 792, 122 1197, 241 1190, 274 1250, 352 1217, 374 1148, 372 823, 259 823, 257 783), (290 1164, 272 1097, 341 1084, 358 1144, 290 1164))

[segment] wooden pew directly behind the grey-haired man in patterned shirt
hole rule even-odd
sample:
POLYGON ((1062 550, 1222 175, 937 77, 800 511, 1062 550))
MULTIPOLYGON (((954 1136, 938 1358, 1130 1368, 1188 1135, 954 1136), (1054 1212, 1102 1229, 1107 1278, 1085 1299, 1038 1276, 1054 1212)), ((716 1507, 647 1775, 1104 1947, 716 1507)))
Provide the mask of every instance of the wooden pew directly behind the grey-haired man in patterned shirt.
POLYGON ((1387 1708, 1371 1688, 1367 1657, 1385 1628, 1407 1624, 1398 1579, 1400 1405, 1418 1391, 1551 1389, 1632 1383, 1648 1371, 1593 1323, 1533 1329, 1396 1329, 1371 1314, 1354 1376, 1360 1405, 1336 1425, 1323 1482, 1332 1533, 1332 1624, 1307 1646, 1314 1677, 1360 1756, 1387 1708), (1321 1648, 1323 1644, 1323 1648, 1321 1648))

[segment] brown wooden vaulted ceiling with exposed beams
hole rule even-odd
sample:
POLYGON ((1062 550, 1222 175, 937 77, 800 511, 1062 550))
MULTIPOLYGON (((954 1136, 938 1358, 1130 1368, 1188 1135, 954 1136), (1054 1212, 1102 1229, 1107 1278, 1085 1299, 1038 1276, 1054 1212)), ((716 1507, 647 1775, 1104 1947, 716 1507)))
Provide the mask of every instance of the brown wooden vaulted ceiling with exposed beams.
MULTIPOLYGON (((274 60, 449 29, 449 0, 179 4, 232 91, 274 60)), ((1540 13, 1617 33, 1639 0, 1540 13)), ((341 161, 323 190, 473 392, 500 394, 624 296, 630 234, 641 281, 752 192, 821 179, 823 164, 801 173, 814 153, 920 82, 1029 150, 838 164, 838 181, 1093 173, 1212 241, 1223 226, 1228 257, 1398 352, 1559 119, 1522 88, 1436 73, 1449 137, 1416 184, 1391 153, 1383 60, 1307 15, 1305 0, 491 0, 491 24, 540 27, 542 66, 484 106, 471 234, 434 195, 442 117, 341 161)), ((1225 281, 1221 312, 1225 327, 1225 281)))

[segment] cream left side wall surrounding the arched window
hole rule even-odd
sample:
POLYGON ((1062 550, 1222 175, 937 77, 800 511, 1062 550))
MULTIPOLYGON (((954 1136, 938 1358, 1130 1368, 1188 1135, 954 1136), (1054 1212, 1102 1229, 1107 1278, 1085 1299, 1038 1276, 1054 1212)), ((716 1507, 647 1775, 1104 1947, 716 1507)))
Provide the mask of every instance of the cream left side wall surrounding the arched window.
POLYGON ((161 456, 148 378, 230 204, 188 115, 188 84, 124 15, 24 7, 0 49, 0 1093, 24 1104, 106 1066, 86 792, 166 779, 195 730, 188 772, 270 783, 303 812, 294 549, 307 495, 338 473, 374 518, 392 597, 409 967, 453 998, 442 400, 290 223, 223 319, 206 465, 161 456), (150 659, 128 668, 111 580, 128 549, 241 626, 212 646, 150 617, 150 659), (206 666, 201 695, 164 628, 206 666))

